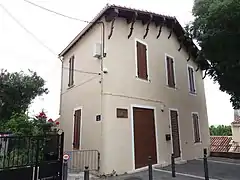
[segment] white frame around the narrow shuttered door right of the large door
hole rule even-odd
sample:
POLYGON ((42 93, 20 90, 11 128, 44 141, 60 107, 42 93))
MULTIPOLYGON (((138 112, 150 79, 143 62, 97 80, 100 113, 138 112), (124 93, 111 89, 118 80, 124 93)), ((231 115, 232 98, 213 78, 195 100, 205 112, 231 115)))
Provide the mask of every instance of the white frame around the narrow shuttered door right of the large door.
POLYGON ((170 128, 170 134, 171 134, 171 149, 172 149, 172 153, 173 153, 173 135, 172 135, 172 125, 171 125, 171 113, 170 111, 177 111, 178 114, 178 133, 179 133, 179 148, 180 148, 180 157, 175 158, 176 160, 182 160, 182 142, 181 142, 181 128, 180 128, 180 121, 179 121, 179 111, 176 108, 169 108, 168 109, 168 117, 169 117, 169 128, 170 128))

